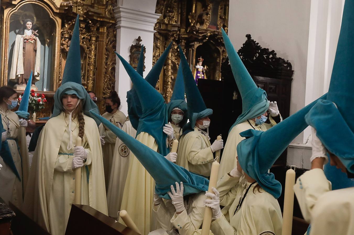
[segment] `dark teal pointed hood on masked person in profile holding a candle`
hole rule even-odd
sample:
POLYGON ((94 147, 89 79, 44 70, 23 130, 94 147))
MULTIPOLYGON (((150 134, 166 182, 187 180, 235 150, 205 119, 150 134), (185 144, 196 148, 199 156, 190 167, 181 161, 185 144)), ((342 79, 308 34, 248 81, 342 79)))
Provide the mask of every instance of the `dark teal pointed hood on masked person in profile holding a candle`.
POLYGON ((180 64, 182 66, 184 90, 185 96, 187 97, 189 118, 189 122, 183 127, 182 134, 184 135, 194 131, 196 120, 213 114, 213 110, 206 108, 204 100, 200 95, 197 85, 195 84, 192 71, 190 71, 187 59, 185 59, 181 46, 179 46, 179 57, 181 59, 180 64))

